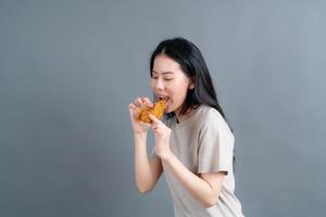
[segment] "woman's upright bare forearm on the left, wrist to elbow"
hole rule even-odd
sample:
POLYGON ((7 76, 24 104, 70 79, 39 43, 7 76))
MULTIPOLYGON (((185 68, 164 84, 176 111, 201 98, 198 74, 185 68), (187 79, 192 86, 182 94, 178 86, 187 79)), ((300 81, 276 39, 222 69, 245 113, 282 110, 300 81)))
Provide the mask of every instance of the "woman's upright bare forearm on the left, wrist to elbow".
POLYGON ((135 132, 135 178, 140 193, 147 193, 156 184, 163 171, 160 159, 148 157, 147 132, 135 132))

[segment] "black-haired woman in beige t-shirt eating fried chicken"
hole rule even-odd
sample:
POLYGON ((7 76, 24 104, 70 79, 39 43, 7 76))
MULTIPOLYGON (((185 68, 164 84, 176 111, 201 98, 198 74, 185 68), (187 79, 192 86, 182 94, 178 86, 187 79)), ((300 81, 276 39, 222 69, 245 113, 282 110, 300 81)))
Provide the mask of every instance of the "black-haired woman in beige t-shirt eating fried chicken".
POLYGON ((153 105, 148 98, 129 104, 138 190, 149 192, 164 173, 175 216, 243 216, 234 194, 235 139, 200 50, 183 38, 164 40, 152 53, 150 75, 154 100, 166 101, 165 119, 138 120, 140 108, 153 105))

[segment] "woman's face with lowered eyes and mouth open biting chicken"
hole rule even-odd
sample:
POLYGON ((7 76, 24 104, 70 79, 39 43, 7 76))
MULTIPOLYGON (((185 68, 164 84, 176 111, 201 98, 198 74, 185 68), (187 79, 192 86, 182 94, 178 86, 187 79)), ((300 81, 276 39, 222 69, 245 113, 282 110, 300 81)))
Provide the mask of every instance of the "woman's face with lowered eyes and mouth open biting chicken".
POLYGON ((166 100, 166 113, 179 114, 188 89, 192 89, 191 79, 181 71, 180 65, 165 54, 154 59, 151 87, 158 99, 166 100))

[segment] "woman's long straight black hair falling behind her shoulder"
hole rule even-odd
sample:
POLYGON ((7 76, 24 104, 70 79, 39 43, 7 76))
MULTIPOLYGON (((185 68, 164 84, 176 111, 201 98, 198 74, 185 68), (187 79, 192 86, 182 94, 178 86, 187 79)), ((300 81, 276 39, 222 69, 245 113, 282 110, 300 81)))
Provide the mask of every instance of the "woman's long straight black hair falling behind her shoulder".
MULTIPOLYGON (((159 54, 165 54, 177 62, 185 75, 195 82, 195 88, 188 89, 180 114, 186 114, 188 111, 191 111, 201 104, 205 104, 217 110, 226 120, 225 114, 218 103, 209 68, 196 44, 184 38, 173 38, 161 41, 150 59, 151 77, 154 60, 159 54)), ((168 116, 174 116, 174 113, 168 114, 168 116)))

